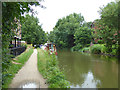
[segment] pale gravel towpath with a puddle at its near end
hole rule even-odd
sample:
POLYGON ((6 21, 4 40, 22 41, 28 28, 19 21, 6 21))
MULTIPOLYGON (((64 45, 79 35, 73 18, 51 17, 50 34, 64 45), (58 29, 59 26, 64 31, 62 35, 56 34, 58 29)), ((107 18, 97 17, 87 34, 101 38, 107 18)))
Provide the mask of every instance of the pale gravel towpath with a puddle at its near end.
POLYGON ((29 60, 13 78, 10 88, 47 88, 45 82, 37 69, 37 50, 34 49, 29 60))

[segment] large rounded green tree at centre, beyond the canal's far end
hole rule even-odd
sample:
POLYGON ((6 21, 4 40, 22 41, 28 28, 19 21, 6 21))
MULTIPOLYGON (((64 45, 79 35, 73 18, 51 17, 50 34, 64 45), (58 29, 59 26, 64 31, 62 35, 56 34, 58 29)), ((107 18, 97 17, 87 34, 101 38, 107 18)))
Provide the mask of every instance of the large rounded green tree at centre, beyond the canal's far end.
POLYGON ((77 28, 81 27, 84 17, 81 14, 70 14, 59 19, 54 29, 49 34, 49 40, 56 43, 60 48, 71 48, 74 44, 74 33, 77 28))

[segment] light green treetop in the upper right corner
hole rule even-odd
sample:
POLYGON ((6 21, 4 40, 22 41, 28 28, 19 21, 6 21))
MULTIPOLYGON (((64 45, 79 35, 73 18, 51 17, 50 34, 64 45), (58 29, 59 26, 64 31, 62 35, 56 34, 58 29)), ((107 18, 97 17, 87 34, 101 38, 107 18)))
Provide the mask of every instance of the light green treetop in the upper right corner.
POLYGON ((101 21, 109 28, 118 28, 118 2, 110 2, 100 8, 101 21))

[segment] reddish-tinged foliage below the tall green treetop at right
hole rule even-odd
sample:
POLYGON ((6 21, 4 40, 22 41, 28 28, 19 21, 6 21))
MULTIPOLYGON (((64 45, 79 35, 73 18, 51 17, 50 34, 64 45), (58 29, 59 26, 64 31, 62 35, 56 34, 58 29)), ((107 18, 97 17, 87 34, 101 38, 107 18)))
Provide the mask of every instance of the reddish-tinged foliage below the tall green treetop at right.
POLYGON ((115 33, 114 29, 109 28, 105 24, 98 26, 96 37, 102 38, 102 42, 106 43, 107 52, 112 51, 112 44, 117 44, 117 36, 114 35, 115 33))

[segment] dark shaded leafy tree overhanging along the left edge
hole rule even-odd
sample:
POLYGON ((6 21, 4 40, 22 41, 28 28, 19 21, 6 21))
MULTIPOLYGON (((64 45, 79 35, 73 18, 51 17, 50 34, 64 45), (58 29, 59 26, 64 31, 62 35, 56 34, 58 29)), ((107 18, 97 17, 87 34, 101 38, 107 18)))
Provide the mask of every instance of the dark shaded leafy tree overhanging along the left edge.
POLYGON ((9 74, 7 69, 11 65, 9 44, 14 36, 13 30, 17 28, 15 18, 22 20, 25 12, 32 11, 30 5, 40 5, 38 2, 3 2, 2 3, 2 84, 9 74))

